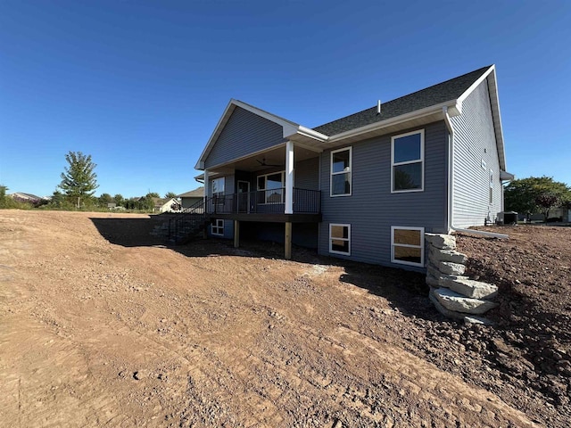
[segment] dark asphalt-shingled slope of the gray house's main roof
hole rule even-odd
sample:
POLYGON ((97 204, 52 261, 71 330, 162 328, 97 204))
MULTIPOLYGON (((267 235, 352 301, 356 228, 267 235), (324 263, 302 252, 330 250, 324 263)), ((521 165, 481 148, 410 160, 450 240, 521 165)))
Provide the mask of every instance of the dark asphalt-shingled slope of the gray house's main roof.
POLYGON ((451 78, 450 80, 426 87, 426 89, 422 89, 410 95, 404 95, 393 101, 382 103, 381 114, 377 114, 377 105, 375 105, 370 109, 359 111, 358 113, 320 125, 319 127, 313 128, 313 130, 325 134, 326 136, 335 136, 345 131, 380 122, 381 120, 401 116, 401 114, 406 114, 410 111, 418 111, 435 104, 454 100, 464 94, 468 87, 472 86, 490 67, 492 66, 483 67, 459 76, 458 78, 451 78))

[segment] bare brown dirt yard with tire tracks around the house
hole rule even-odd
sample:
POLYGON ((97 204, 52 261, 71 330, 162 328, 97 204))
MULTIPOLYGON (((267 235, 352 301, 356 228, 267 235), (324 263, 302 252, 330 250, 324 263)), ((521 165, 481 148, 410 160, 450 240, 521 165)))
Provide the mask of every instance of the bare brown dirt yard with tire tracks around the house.
MULTIPOLYGON (((0 425, 567 427, 571 228, 459 236, 495 326, 424 277, 143 215, 0 210, 0 425)), ((497 230, 497 229, 494 229, 497 230)))

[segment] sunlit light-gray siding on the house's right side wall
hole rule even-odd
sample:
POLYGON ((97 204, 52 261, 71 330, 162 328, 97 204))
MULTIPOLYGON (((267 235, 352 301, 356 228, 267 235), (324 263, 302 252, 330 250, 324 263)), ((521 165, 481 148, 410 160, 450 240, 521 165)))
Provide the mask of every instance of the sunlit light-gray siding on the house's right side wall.
POLYGON ((454 128, 453 226, 481 226, 485 218, 493 221, 503 206, 487 81, 468 95, 462 114, 451 121, 454 128), (489 203, 490 170, 493 173, 492 204, 489 203))

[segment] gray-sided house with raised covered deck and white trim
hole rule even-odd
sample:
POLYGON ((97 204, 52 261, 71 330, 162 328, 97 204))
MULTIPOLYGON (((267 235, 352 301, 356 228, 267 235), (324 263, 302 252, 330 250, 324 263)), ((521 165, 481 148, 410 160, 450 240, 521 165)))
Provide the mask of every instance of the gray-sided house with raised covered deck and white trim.
POLYGON ((493 65, 315 128, 232 99, 195 169, 210 235, 417 270, 425 233, 493 221, 513 178, 493 65))

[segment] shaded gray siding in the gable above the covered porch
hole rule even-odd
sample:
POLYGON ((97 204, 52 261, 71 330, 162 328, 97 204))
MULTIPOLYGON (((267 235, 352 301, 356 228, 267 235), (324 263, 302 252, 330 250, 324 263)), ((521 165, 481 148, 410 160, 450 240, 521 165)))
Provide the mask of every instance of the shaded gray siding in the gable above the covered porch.
POLYGON ((236 107, 204 161, 204 166, 208 169, 234 161, 284 141, 283 129, 277 123, 236 107))

